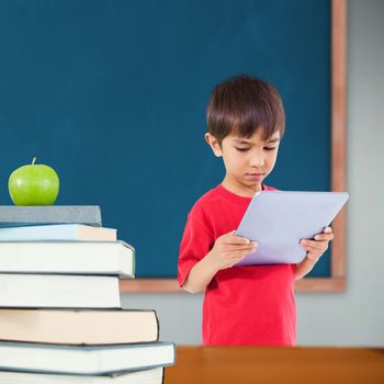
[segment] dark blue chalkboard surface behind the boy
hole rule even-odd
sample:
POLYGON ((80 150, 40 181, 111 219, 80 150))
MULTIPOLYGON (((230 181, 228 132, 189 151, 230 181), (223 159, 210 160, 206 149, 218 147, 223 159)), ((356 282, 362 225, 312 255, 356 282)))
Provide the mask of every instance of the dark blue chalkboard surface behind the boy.
POLYGON ((0 204, 36 156, 59 173, 57 204, 99 204, 136 248, 137 276, 177 275, 187 214, 224 177, 204 133, 227 77, 281 92, 286 135, 266 183, 330 190, 329 1, 3 0, 0 55, 0 204))

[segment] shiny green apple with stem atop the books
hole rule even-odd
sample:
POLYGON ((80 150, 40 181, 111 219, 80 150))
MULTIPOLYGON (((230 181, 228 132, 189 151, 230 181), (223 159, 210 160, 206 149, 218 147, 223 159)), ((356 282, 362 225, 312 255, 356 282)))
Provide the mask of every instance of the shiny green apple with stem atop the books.
POLYGON ((58 195, 59 179, 48 166, 23 166, 14 170, 8 181, 8 190, 15 205, 53 205, 58 195))

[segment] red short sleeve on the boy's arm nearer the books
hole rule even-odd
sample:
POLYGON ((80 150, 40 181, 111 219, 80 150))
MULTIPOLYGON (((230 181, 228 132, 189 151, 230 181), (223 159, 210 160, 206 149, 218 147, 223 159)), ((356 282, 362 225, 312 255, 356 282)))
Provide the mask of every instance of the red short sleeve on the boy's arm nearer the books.
POLYGON ((199 213, 192 208, 180 242, 178 281, 182 286, 193 268, 212 249, 214 237, 199 213))

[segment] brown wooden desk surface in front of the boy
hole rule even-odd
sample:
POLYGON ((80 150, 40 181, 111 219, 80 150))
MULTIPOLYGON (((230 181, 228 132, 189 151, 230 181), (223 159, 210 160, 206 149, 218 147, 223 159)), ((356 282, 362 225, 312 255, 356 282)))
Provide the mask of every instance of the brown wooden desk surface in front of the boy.
POLYGON ((178 347, 165 384, 380 383, 384 349, 178 347))

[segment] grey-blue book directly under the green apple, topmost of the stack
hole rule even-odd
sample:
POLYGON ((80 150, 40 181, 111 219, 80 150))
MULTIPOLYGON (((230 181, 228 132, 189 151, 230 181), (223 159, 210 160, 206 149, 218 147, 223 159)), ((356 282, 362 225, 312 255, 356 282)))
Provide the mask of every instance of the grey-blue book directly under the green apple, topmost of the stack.
POLYGON ((41 224, 86 224, 101 227, 98 205, 0 206, 0 227, 41 224))

